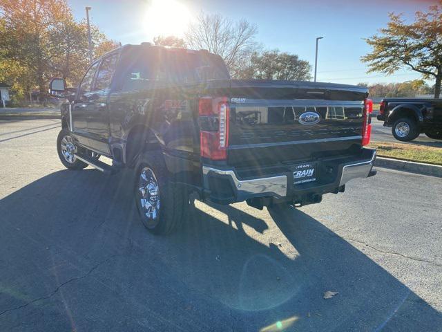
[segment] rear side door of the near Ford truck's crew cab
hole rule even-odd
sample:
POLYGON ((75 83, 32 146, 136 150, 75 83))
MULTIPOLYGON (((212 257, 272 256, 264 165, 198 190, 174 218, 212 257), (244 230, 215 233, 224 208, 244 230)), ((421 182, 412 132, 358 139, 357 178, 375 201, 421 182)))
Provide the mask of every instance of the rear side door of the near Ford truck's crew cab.
POLYGON ((100 62, 95 84, 93 84, 93 94, 89 96, 90 102, 87 107, 87 131, 90 147, 102 154, 111 154, 108 95, 117 58, 118 53, 113 53, 104 57, 100 62))

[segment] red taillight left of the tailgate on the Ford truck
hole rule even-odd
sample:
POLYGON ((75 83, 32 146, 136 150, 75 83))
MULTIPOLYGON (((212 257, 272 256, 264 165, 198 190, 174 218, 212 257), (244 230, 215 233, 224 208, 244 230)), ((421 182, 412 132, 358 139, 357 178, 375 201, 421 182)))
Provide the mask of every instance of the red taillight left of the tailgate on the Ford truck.
POLYGON ((229 147, 229 102, 227 97, 200 98, 201 156, 211 160, 226 160, 229 147))

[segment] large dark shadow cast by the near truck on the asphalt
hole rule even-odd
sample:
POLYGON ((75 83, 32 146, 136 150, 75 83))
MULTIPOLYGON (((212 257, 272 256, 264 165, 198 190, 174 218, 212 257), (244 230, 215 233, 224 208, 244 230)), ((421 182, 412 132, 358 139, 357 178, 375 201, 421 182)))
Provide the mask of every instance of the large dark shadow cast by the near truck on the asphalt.
POLYGON ((154 237, 132 183, 66 170, 0 201, 1 331, 441 330, 441 313, 300 210, 198 203, 154 237))

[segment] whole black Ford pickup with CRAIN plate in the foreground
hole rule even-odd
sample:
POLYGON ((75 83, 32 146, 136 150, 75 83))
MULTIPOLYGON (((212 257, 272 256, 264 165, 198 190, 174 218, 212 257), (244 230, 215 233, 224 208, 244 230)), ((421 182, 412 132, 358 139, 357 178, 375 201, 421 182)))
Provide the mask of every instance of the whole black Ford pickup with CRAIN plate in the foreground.
POLYGON ((180 223, 189 197, 300 206, 376 173, 376 150, 363 147, 372 101, 358 86, 231 80, 218 55, 144 43, 97 59, 77 89, 52 79, 50 93, 68 100, 61 163, 133 169, 138 212, 155 234, 180 223))

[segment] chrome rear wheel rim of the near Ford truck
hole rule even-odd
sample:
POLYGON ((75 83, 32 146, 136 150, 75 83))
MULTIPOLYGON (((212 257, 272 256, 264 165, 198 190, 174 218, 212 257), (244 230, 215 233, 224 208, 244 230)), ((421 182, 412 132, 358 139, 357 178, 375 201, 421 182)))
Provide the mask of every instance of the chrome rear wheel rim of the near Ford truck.
POLYGON ((149 221, 157 223, 160 217, 160 188, 153 170, 144 167, 138 182, 140 192, 140 209, 149 221))

